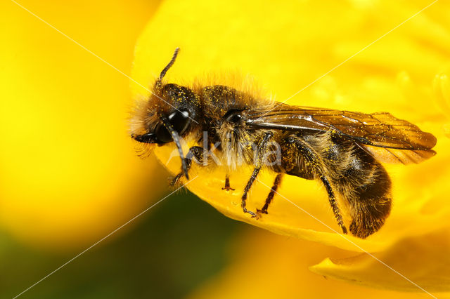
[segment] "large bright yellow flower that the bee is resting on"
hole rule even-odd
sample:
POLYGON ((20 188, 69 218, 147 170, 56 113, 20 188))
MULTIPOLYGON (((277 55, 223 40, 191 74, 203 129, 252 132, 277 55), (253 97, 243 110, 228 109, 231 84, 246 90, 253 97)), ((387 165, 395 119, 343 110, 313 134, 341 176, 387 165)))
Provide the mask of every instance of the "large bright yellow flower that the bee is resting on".
MULTIPOLYGON (((317 274, 397 291, 450 291, 450 206, 446 202, 450 177, 450 22, 446 12, 450 6, 438 1, 418 13, 428 4, 430 1, 168 0, 139 39, 132 73, 136 81, 150 86, 174 48, 180 47, 167 81, 184 84, 205 72, 239 69, 252 74, 279 101, 295 94, 288 100, 290 105, 387 111, 433 133, 438 140, 436 157, 418 165, 386 165, 393 184, 392 213, 379 232, 364 240, 336 233, 338 225, 326 192, 316 182, 286 178, 279 190, 285 199, 277 196, 269 215, 259 220, 240 208, 240 195, 251 169, 232 173, 231 187, 236 191, 224 192, 224 171, 193 168, 193 177, 198 178, 188 188, 230 218, 345 250, 339 251, 340 258, 310 261, 318 263, 311 267, 317 274)), ((135 97, 148 95, 140 86, 134 85, 132 90, 135 97)), ((159 147, 156 153, 165 163, 172 150, 159 147)), ((167 167, 177 172, 179 161, 170 161, 167 167)), ((274 175, 263 173, 259 179, 262 182, 252 187, 248 201, 252 210, 264 203, 274 175)), ((255 238, 246 246, 266 246, 274 239, 266 234, 264 238, 255 238)), ((283 246, 272 247, 271 256, 286 255, 284 263, 289 258, 298 262, 295 251, 285 253, 283 246)), ((266 262, 253 260, 250 249, 245 255, 245 261, 238 260, 245 269, 235 265, 229 275, 223 274, 224 279, 214 284, 212 297, 224 290, 220 284, 232 287, 227 293, 235 296, 247 287, 245 281, 252 271, 295 275, 287 266, 269 263, 265 268, 266 262), (236 284, 227 284, 231 276, 236 284)), ((322 258, 326 256, 323 253, 322 258)), ((298 267, 306 265, 299 263, 298 267)), ((283 275, 290 281, 302 279, 287 276, 283 275)), ((271 287, 253 282, 252 289, 271 287)), ((295 295, 300 292, 293 290, 295 295)), ((264 297, 264 292, 260 295, 264 297)))

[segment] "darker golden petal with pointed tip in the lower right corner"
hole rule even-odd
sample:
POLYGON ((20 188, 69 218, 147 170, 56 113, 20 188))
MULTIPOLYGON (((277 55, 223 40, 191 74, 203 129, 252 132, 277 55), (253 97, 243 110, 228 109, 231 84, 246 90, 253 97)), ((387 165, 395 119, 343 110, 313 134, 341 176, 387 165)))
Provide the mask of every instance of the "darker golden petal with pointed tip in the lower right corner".
POLYGON ((450 227, 447 227, 403 239, 383 253, 373 256, 362 253, 345 259, 327 258, 309 269, 325 277, 362 286, 396 291, 420 292, 422 288, 430 293, 449 292, 449 252, 450 227))

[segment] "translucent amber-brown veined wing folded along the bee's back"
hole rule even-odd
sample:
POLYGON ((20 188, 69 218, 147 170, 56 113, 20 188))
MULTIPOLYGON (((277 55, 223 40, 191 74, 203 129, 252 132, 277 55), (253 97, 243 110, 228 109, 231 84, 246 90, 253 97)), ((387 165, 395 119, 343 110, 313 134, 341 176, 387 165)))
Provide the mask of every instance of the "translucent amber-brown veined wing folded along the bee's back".
POLYGON ((246 124, 251 128, 294 132, 332 131, 354 140, 373 157, 388 163, 419 163, 436 154, 431 150, 436 145, 434 135, 387 112, 364 114, 278 103, 269 112, 250 112, 246 124))

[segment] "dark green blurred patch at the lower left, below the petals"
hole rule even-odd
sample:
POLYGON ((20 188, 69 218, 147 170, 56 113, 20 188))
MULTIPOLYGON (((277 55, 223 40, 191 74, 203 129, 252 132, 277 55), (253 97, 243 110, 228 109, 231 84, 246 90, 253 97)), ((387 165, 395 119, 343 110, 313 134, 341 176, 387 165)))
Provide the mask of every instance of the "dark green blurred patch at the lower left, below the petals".
MULTIPOLYGON (((134 221, 19 298, 182 298, 226 265, 228 244, 245 226, 190 192, 134 221)), ((0 298, 13 298, 84 249, 46 253, 0 234, 0 298)))

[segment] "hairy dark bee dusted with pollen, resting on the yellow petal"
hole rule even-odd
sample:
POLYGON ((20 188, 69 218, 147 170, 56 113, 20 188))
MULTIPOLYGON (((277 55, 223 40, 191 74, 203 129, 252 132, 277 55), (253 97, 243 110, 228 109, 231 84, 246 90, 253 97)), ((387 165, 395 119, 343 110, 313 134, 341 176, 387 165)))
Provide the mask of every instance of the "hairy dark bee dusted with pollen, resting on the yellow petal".
MULTIPOLYGON (((347 234, 339 204, 345 203, 349 232, 364 239, 383 226, 391 211, 392 184, 381 163, 419 163, 436 154, 434 135, 387 112, 291 106, 230 86, 165 83, 178 53, 176 48, 152 94, 131 117, 131 138, 158 146, 174 142, 181 171, 172 185, 189 178, 193 161, 205 167, 226 161, 226 173, 239 167, 237 161, 251 166, 241 206, 253 218, 268 213, 283 176, 295 175, 323 184, 338 225, 347 234), (182 139, 195 142, 186 156, 182 139), (217 159, 205 161, 211 150, 217 159), (263 168, 276 174, 274 184, 264 206, 250 211, 248 192, 263 168)), ((231 190, 229 175, 222 189, 231 190)))

